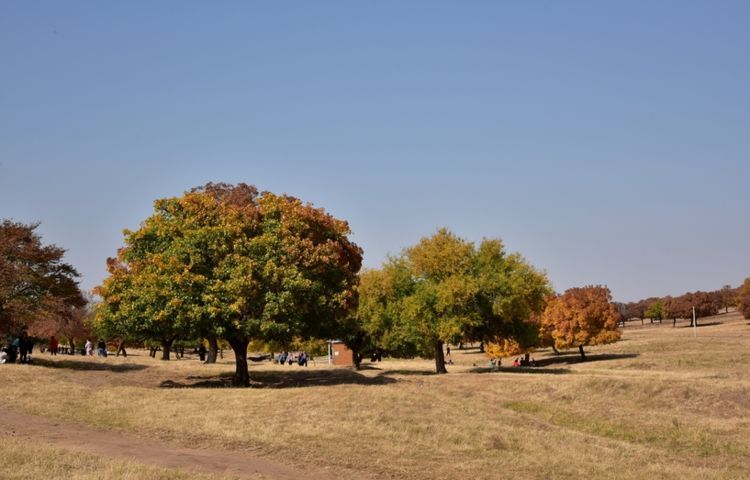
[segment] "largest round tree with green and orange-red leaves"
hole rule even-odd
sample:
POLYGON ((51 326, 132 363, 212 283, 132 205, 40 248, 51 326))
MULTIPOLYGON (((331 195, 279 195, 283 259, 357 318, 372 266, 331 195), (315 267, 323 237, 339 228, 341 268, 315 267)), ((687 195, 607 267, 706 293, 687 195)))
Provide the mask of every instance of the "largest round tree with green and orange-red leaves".
POLYGON ((356 306, 362 250, 348 224, 246 184, 208 184, 157 200, 110 259, 98 322, 168 342, 219 337, 248 385, 250 340, 325 337, 356 306))

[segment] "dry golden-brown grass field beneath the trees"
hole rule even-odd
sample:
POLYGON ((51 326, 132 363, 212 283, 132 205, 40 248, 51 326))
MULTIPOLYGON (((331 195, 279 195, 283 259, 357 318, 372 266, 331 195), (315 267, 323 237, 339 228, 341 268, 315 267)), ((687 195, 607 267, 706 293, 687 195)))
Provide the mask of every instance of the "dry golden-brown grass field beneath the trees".
POLYGON ((750 325, 736 313, 703 323, 632 325, 621 342, 588 348, 585 363, 577 352, 540 351, 542 367, 495 372, 476 349, 454 349, 441 376, 427 360, 368 362, 360 372, 320 360, 251 364, 250 389, 223 388, 230 357, 202 365, 143 352, 37 354, 34 365, 0 365, 4 415, 47 422, 58 438, 48 445, 48 428, 14 429, 0 476, 185 478, 201 463, 178 457, 175 470, 140 446, 292 469, 209 468, 228 478, 746 479, 750 325), (66 430, 123 437, 133 449, 76 449, 83 437, 66 445, 66 430))

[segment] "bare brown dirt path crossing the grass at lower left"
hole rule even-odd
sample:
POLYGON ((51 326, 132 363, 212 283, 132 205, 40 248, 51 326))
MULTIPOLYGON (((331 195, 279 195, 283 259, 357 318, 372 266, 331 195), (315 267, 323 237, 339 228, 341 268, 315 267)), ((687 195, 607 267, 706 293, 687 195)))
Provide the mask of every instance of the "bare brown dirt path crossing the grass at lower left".
POLYGON ((335 478, 331 471, 304 471, 246 452, 183 448, 132 435, 70 424, 44 417, 0 409, 0 424, 6 432, 66 450, 107 457, 135 459, 144 464, 233 475, 241 479, 324 480, 335 478))

